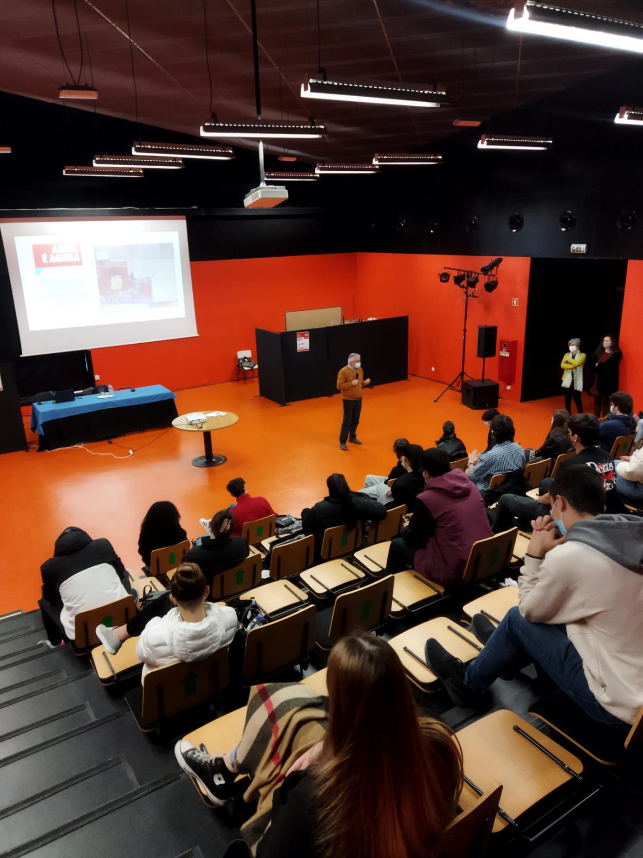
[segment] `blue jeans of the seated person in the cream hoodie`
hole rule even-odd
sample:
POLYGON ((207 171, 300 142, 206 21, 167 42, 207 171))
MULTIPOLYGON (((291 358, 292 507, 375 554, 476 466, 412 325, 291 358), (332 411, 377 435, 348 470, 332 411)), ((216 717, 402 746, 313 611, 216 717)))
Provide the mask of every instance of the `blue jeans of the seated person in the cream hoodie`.
POLYGON ((518 607, 508 611, 484 650, 469 663, 465 685, 473 692, 484 692, 502 674, 526 668, 532 662, 537 662, 593 721, 627 732, 629 725, 604 710, 590 691, 583 662, 565 626, 532 623, 521 616, 518 607))

